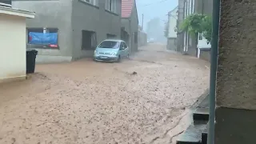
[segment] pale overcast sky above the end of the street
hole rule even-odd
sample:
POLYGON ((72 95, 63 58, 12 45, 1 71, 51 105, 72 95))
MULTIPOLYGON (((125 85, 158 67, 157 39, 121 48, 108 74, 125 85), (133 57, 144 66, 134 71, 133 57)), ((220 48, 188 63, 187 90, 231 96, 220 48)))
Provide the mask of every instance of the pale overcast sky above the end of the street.
POLYGON ((161 18, 162 24, 167 21, 167 13, 178 6, 178 0, 136 0, 138 9, 139 24, 142 24, 144 14, 144 26, 152 18, 161 18))

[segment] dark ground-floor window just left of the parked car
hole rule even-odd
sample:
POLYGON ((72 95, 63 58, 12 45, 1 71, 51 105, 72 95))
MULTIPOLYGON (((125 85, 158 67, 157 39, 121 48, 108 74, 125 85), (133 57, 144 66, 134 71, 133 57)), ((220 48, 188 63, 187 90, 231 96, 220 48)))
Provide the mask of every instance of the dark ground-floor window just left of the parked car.
POLYGON ((95 50, 97 37, 94 31, 82 30, 82 50, 95 50))

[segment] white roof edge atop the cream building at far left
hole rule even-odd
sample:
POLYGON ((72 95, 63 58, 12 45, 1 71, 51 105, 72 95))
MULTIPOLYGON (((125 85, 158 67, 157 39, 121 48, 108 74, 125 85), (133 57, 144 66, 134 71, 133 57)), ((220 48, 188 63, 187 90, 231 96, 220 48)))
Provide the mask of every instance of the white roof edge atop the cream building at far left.
POLYGON ((18 10, 7 6, 0 6, 0 14, 10 14, 25 18, 34 18, 34 12, 18 10))

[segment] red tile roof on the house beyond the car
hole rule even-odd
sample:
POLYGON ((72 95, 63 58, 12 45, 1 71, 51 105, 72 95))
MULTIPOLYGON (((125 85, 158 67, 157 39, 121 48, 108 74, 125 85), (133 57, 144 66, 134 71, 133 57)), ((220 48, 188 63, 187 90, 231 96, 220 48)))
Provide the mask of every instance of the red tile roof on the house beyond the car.
POLYGON ((134 8, 134 0, 122 0, 122 18, 129 18, 134 8))

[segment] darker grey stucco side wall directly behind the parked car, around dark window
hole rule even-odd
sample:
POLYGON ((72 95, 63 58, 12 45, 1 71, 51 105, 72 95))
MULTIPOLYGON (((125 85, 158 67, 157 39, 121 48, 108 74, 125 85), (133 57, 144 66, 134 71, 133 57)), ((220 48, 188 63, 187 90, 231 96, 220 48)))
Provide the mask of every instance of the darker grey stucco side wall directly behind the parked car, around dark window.
POLYGON ((114 34, 120 38, 121 19, 118 1, 117 14, 105 10, 105 2, 99 1, 98 7, 90 6, 79 0, 73 1, 72 27, 73 27, 73 57, 92 57, 94 50, 82 50, 82 30, 94 31, 97 36, 97 43, 106 39, 106 34, 114 34))

